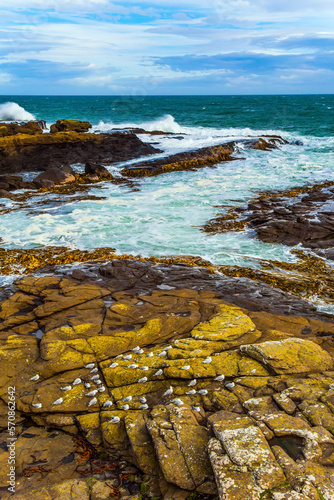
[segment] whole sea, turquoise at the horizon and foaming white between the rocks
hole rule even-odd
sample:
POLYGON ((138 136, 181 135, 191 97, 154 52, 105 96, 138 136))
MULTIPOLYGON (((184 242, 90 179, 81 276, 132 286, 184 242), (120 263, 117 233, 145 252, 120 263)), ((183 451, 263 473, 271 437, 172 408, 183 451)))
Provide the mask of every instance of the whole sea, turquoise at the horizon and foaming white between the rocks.
MULTIPOLYGON (((31 116, 48 124, 59 118, 88 120, 104 132, 141 127, 176 133, 140 136, 162 155, 258 134, 278 134, 291 144, 265 152, 241 147, 237 161, 143 178, 137 192, 107 182, 102 189, 93 187, 91 193, 104 200, 68 198, 59 205, 51 197, 40 213, 1 216, 3 248, 110 246, 118 253, 200 255, 214 264, 254 267, 259 258, 294 261, 290 247, 262 243, 252 232, 208 235, 200 227, 217 211, 244 206, 260 191, 333 179, 333 95, 0 97, 0 119, 31 116)), ((109 169, 117 174, 122 166, 109 169)))

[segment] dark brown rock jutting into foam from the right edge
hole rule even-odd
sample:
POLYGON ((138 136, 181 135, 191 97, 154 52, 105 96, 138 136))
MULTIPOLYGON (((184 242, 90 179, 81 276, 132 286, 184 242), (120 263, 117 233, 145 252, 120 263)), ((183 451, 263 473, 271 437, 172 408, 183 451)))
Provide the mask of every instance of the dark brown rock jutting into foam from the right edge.
POLYGON ((294 188, 282 193, 268 193, 248 202, 247 208, 231 209, 208 221, 203 230, 208 233, 255 230, 267 243, 322 251, 333 258, 334 188, 328 181, 314 186, 294 188))

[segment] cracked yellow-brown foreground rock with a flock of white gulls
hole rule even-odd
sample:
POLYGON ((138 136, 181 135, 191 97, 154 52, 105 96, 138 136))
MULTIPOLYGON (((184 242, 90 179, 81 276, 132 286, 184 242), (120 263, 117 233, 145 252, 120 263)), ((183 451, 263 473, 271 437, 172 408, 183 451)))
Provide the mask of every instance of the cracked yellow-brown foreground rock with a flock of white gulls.
POLYGON ((132 498, 141 483, 165 500, 331 500, 333 323, 272 328, 203 281, 159 289, 163 266, 141 264, 28 276, 0 303, 0 401, 15 387, 19 456, 10 497, 1 450, 1 498, 132 498))

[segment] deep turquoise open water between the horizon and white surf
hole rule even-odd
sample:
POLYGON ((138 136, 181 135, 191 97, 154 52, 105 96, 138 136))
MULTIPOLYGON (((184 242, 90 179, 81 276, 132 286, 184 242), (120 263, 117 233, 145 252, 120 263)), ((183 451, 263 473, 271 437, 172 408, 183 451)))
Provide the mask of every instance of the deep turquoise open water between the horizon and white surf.
MULTIPOLYGON (((279 129, 301 135, 334 135, 334 95, 298 96, 0 96, 14 101, 38 119, 58 118, 115 124, 155 120, 172 115, 182 126, 279 129)), ((0 116, 1 119, 1 116, 0 116)))

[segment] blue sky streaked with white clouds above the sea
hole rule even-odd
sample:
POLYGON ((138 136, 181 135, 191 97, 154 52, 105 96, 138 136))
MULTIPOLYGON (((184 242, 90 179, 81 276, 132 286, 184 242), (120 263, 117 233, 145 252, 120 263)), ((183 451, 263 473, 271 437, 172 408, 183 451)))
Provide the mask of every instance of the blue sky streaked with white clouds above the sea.
POLYGON ((333 0, 0 0, 1 95, 334 93, 333 0))

